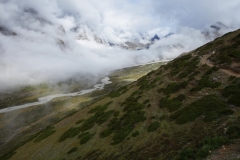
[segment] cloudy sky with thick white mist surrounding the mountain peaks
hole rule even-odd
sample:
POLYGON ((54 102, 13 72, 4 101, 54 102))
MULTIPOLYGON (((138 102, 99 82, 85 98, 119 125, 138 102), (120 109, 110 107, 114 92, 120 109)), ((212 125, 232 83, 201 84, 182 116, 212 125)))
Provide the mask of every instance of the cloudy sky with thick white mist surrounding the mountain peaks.
POLYGON ((216 22, 228 26, 220 35, 239 28, 239 8, 239 0, 0 0, 0 27, 17 34, 0 33, 0 91, 174 58, 213 40, 202 31, 216 22), (127 51, 79 41, 77 26, 112 43, 155 34, 161 40, 127 51))

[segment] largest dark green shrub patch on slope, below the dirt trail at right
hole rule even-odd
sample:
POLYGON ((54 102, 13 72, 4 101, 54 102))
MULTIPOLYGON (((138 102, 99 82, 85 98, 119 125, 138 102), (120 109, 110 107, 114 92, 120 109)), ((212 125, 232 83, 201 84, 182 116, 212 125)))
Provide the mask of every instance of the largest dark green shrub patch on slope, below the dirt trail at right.
POLYGON ((209 122, 232 113, 233 111, 226 108, 226 104, 222 99, 215 95, 210 95, 189 104, 171 115, 170 118, 176 120, 177 124, 184 124, 203 115, 203 120, 209 122))

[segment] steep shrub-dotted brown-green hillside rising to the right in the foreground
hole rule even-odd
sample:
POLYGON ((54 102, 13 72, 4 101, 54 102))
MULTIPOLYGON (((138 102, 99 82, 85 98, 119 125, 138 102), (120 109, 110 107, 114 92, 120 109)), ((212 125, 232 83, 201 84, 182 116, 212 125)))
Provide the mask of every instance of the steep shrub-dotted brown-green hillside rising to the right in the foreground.
POLYGON ((239 54, 237 30, 47 127, 2 159, 239 159, 239 54))

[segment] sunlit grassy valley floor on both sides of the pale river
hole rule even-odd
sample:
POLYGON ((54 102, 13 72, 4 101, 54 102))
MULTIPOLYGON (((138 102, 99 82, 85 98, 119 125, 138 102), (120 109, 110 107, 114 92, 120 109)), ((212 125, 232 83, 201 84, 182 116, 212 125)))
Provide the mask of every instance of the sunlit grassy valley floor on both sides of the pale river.
MULTIPOLYGON (((159 66, 163 64, 165 64, 165 62, 112 71, 109 75, 112 83, 106 85, 103 90, 96 90, 82 96, 54 98, 52 101, 42 105, 0 113, 0 157, 8 152, 11 153, 11 151, 25 144, 37 135, 38 132, 43 131, 48 126, 56 124, 62 119, 76 113, 77 110, 97 102, 109 92, 136 81, 139 77, 159 68, 159 66), (139 68, 141 68, 141 70, 139 70, 139 68)), ((79 86, 83 85, 79 82, 78 84, 79 86)), ((62 85, 69 86, 66 83, 62 85)), ((75 86, 73 85, 71 87, 75 86)), ((25 86, 21 90, 11 91, 11 94, 6 93, 7 96, 0 94, 0 104, 6 104, 5 102, 17 104, 18 100, 24 104, 27 103, 27 101, 24 102, 24 100, 30 99, 32 96, 41 97, 41 95, 56 94, 55 92, 50 92, 50 90, 47 85, 25 86), (13 95, 15 95, 15 98, 13 95), (23 97, 21 98, 21 96, 23 97)), ((61 90, 59 90, 59 92, 62 93, 61 90)))

